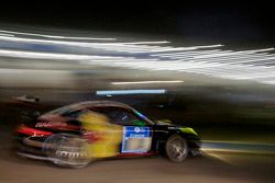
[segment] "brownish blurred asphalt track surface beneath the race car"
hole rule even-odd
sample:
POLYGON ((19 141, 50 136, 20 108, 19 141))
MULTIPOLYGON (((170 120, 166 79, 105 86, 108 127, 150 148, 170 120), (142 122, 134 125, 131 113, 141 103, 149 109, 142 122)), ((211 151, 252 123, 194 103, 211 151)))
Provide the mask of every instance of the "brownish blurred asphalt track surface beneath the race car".
POLYGON ((0 182, 274 182, 275 157, 211 152, 184 163, 164 157, 103 160, 84 169, 58 168, 50 162, 22 159, 12 149, 12 136, 1 131, 0 182))

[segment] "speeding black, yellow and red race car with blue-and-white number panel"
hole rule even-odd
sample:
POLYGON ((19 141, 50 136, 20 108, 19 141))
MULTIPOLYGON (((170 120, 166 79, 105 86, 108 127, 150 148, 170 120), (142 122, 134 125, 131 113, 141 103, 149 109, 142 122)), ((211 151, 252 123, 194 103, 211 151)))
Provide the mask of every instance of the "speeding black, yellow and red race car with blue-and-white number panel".
POLYGON ((18 155, 81 168, 106 158, 165 155, 172 162, 198 156, 200 137, 190 127, 153 122, 114 101, 67 105, 15 129, 18 155))

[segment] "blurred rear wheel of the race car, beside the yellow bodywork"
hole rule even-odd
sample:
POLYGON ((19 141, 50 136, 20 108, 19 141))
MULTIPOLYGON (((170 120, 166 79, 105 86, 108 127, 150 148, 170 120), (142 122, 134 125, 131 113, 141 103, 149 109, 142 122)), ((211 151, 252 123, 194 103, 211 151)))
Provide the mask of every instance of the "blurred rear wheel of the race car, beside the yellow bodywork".
POLYGON ((87 152, 87 141, 70 134, 56 134, 45 140, 44 151, 48 159, 61 167, 82 168, 91 159, 87 152))

